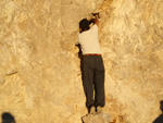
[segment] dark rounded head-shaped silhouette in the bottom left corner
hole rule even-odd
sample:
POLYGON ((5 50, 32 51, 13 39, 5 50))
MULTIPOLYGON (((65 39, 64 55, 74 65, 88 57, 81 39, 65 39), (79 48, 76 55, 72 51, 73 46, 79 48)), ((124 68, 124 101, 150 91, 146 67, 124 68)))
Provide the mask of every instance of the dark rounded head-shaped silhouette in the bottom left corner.
POLYGON ((1 116, 2 116, 2 123, 16 123, 14 116, 9 112, 2 113, 1 116))

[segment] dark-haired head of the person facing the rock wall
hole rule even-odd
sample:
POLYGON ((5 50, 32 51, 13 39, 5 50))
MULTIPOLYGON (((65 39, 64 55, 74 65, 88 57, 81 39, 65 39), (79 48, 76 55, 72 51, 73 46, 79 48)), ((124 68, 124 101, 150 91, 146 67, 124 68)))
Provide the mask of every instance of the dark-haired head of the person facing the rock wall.
POLYGON ((89 29, 89 21, 87 19, 83 19, 79 22, 80 33, 89 29))

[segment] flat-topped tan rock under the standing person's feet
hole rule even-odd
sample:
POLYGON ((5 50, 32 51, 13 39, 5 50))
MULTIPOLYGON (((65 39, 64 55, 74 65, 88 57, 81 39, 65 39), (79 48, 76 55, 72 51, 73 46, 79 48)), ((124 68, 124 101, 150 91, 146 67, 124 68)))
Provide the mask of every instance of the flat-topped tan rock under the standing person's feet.
POLYGON ((110 115, 106 113, 87 114, 82 118, 83 123, 109 123, 110 115))

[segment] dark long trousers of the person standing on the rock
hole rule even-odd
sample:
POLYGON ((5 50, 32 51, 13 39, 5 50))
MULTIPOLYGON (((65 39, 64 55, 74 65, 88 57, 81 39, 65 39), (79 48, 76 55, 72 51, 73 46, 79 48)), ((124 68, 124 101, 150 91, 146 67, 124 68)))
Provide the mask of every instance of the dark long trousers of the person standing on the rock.
POLYGON ((86 95, 86 107, 105 104, 104 65, 102 57, 87 56, 83 59, 83 85, 86 95), (95 97, 93 97, 95 90, 95 97))

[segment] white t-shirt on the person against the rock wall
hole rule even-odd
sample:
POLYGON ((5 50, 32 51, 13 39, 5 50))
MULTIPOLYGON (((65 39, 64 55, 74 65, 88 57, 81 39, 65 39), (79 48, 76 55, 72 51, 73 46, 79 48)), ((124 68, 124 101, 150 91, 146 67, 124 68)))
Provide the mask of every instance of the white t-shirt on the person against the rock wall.
POLYGON ((80 44, 83 54, 87 54, 87 53, 101 54, 99 37, 98 37, 98 26, 95 24, 91 26, 90 29, 78 34, 77 44, 80 44))

